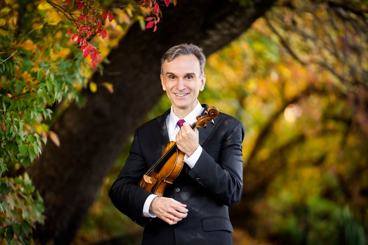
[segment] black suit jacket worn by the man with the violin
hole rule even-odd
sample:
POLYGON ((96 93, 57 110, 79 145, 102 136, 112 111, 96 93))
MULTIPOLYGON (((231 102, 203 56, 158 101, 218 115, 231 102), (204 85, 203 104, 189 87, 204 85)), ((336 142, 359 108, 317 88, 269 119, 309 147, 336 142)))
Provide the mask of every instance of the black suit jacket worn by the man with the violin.
POLYGON ((232 244, 228 206, 240 201, 242 193, 244 125, 227 114, 219 113, 215 125, 198 128, 201 156, 192 169, 184 164, 164 192, 164 197, 186 204, 188 216, 175 225, 142 217, 152 193, 138 187, 138 182, 169 143, 169 113, 170 109, 135 130, 130 155, 109 196, 118 210, 145 227, 142 244, 232 244))

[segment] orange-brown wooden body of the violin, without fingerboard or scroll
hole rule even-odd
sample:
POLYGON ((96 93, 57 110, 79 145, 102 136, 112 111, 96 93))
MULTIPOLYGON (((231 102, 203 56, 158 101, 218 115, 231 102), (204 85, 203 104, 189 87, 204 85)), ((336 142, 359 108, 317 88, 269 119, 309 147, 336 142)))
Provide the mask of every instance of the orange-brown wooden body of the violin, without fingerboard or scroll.
MULTIPOLYGON (((169 151, 169 149, 175 144, 175 141, 169 142, 164 148, 160 158, 169 151)), ((158 173, 153 171, 151 174, 144 175, 139 181, 138 185, 145 190, 151 191, 153 194, 162 197, 167 184, 172 184, 176 177, 180 174, 184 165, 184 152, 176 149, 169 160, 163 165, 158 173)))

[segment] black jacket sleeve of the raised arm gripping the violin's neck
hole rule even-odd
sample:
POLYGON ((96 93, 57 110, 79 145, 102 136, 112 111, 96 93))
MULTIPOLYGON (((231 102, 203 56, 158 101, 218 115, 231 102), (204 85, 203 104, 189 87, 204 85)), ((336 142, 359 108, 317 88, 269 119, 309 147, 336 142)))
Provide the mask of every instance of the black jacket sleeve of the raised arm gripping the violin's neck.
MULTIPOLYGON (((228 206, 240 201, 243 188, 244 125, 237 122, 233 127, 227 125, 229 133, 222 139, 212 142, 210 147, 202 146, 197 163, 192 169, 187 167, 189 176, 228 206)), ((212 134, 220 135, 215 131, 212 134)))

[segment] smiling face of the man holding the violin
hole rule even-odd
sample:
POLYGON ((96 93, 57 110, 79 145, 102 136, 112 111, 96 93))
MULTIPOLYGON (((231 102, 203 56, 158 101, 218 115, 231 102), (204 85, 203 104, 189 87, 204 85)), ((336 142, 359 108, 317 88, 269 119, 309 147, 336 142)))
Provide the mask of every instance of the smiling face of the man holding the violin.
POLYGON ((163 75, 160 75, 162 89, 176 114, 188 114, 197 105, 199 91, 204 89, 206 82, 206 75, 199 77, 199 73, 199 61, 194 55, 181 55, 164 62, 163 75))

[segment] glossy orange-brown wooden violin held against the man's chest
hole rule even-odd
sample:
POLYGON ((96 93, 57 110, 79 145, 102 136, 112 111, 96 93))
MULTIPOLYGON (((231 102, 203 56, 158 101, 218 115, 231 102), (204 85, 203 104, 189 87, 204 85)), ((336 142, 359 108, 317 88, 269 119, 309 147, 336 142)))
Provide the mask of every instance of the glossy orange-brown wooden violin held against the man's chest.
MULTIPOLYGON (((191 125, 194 130, 197 127, 206 128, 206 124, 213 121, 219 115, 219 110, 216 107, 209 107, 205 111, 205 115, 198 115, 196 121, 191 125)), ((158 161, 148 169, 138 185, 153 194, 162 197, 163 192, 168 184, 172 184, 178 177, 184 166, 185 153, 180 151, 175 141, 169 142, 164 148, 158 161)))

